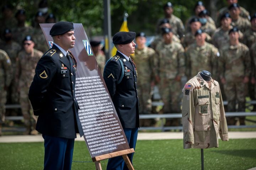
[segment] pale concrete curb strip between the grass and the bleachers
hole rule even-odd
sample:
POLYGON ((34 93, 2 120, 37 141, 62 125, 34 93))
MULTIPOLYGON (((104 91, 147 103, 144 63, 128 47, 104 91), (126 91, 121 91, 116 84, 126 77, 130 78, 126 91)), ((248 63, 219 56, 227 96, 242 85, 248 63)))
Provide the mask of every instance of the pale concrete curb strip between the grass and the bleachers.
MULTIPOLYGON (((247 139, 256 138, 254 132, 229 132, 229 139, 247 139)), ((139 132, 138 140, 170 140, 183 139, 183 132, 139 132)), ((75 141, 84 141, 79 135, 75 141)), ((43 142, 42 135, 16 135, 16 136, 1 136, 0 143, 9 142, 43 142)))

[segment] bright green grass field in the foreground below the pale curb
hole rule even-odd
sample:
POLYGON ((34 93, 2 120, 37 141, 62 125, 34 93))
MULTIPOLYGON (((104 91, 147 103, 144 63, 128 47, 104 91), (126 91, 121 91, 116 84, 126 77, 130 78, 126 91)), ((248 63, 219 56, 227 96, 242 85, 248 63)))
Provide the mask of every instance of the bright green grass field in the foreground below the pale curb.
MULTIPOLYGON (((204 149, 206 170, 247 170, 256 167, 256 139, 219 141, 204 149)), ((137 170, 199 170, 200 149, 183 149, 182 140, 138 141, 133 159, 137 170)), ((0 170, 43 169, 43 143, 0 143, 0 170)), ((94 170, 85 142, 75 142, 73 170, 94 170)), ((101 161, 106 169, 107 160, 101 161)))

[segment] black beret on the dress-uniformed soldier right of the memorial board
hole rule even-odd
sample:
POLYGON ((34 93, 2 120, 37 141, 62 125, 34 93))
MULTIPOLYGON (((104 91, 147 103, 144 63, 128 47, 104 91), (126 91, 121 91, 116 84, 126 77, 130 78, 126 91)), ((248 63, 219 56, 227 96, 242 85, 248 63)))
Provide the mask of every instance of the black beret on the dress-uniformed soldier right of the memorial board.
POLYGON ((117 32, 113 36, 113 44, 128 44, 134 40, 135 35, 135 32, 117 32))

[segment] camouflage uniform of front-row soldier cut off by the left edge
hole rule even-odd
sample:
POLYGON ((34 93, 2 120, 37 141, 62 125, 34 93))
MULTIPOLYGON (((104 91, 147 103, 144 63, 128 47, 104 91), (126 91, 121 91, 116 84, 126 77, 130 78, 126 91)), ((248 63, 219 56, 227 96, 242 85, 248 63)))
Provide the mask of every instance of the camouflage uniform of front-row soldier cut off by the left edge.
POLYGON ((2 134, 2 123, 5 120, 5 88, 11 83, 11 60, 4 50, 0 49, 0 135, 2 134))

